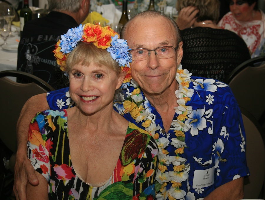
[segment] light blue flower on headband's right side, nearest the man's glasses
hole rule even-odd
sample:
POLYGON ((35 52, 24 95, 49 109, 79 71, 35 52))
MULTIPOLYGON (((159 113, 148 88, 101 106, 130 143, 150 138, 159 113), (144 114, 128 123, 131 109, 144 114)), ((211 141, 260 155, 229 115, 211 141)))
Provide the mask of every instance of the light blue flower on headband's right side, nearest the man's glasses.
POLYGON ((112 59, 116 60, 120 66, 130 67, 132 59, 128 53, 131 49, 128 47, 126 40, 118 39, 118 35, 111 37, 111 46, 107 48, 107 52, 110 52, 112 59))

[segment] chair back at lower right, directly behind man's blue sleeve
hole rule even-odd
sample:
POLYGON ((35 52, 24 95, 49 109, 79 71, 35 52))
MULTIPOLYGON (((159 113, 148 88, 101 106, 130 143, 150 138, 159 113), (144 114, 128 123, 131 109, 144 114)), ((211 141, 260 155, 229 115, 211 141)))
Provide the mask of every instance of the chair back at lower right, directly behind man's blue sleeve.
POLYGON ((244 199, 265 198, 265 134, 251 113, 240 108, 246 132, 246 160, 250 176, 244 178, 244 199))

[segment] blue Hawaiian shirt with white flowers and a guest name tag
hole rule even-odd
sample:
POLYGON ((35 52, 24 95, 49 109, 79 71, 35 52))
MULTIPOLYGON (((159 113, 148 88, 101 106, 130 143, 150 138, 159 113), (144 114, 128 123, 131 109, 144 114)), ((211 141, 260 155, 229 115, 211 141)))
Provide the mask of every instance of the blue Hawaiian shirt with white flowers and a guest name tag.
MULTIPOLYGON (((249 175, 246 164, 246 135, 243 126, 241 111, 228 85, 213 79, 191 77, 189 88, 194 90, 191 100, 186 105, 192 106, 188 115, 191 129, 185 132, 186 148, 181 155, 186 158, 185 165, 189 165, 188 179, 182 181, 180 189, 186 192, 184 199, 199 199, 206 197, 218 186, 239 177, 249 175)), ((127 95, 135 89, 128 85, 122 95, 127 95)), ((141 91, 144 98, 146 98, 141 91)), ((47 93, 47 101, 51 109, 63 109, 73 105, 69 97, 69 88, 47 93)), ((118 112, 121 104, 114 104, 118 112)), ((159 113, 150 104, 145 109, 156 116, 155 123, 162 130, 163 122, 159 113)), ((172 120, 177 118, 178 114, 172 120)), ((130 113, 124 117, 145 129, 141 123, 135 122, 130 113)), ((159 137, 167 137, 171 143, 171 135, 175 136, 174 129, 168 133, 157 130, 159 137)), ((168 145, 165 150, 169 156, 175 156, 176 148, 168 145)), ((167 171, 173 171, 173 165, 167 166, 167 171)), ((167 190, 172 184, 169 182, 167 190)), ((159 199, 159 198, 158 198, 159 199)))

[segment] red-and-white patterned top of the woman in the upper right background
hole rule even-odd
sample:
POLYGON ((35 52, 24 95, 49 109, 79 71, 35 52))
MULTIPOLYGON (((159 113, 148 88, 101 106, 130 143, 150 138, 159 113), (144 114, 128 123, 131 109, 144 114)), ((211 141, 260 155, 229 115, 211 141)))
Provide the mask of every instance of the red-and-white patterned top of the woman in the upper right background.
POLYGON ((227 29, 238 34, 247 44, 251 57, 265 38, 265 14, 261 12, 262 19, 251 22, 241 22, 233 17, 232 12, 228 12, 218 22, 218 27, 227 29))

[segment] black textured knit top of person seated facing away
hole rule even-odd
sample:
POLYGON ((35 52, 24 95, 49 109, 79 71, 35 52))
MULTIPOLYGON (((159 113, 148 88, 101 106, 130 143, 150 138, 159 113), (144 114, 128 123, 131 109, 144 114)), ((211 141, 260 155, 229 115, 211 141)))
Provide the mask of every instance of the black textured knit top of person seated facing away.
POLYGON ((242 62, 250 59, 246 43, 225 29, 196 27, 180 31, 183 39, 183 68, 193 76, 224 81, 242 62))

